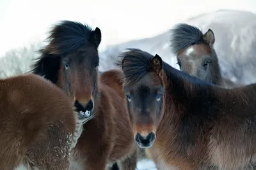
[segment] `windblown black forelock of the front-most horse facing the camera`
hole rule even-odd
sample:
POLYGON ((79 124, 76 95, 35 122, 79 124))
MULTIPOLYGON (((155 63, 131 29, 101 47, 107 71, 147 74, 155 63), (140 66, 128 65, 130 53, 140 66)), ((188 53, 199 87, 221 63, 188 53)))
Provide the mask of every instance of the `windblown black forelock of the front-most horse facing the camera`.
POLYGON ((150 60, 154 57, 148 52, 136 48, 127 48, 128 52, 118 55, 116 66, 123 70, 125 84, 133 85, 150 71, 150 60))

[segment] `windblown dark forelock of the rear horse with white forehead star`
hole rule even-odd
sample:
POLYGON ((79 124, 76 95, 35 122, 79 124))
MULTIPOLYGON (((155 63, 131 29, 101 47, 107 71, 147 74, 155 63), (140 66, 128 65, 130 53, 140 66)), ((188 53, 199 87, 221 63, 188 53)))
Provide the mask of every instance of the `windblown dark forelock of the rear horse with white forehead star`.
POLYGON ((191 45, 202 43, 203 32, 198 27, 189 24, 177 24, 170 30, 170 47, 177 55, 191 45))

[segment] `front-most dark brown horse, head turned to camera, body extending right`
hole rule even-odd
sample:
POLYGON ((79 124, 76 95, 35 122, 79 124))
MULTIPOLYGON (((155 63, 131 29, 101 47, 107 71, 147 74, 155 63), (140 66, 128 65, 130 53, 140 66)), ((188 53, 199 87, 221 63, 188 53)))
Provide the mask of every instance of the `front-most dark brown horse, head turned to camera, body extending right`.
POLYGON ((256 168, 256 84, 225 89, 140 49, 119 57, 134 140, 159 169, 256 168))

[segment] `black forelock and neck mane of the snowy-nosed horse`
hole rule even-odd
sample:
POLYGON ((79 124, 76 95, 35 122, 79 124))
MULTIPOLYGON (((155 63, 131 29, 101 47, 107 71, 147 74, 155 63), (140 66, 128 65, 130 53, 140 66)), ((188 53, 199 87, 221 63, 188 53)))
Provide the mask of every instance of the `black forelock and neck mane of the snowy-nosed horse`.
POLYGON ((40 57, 36 59, 30 72, 57 83, 61 57, 90 43, 92 33, 92 27, 86 24, 61 20, 49 32, 46 39, 49 44, 38 50, 40 57))

